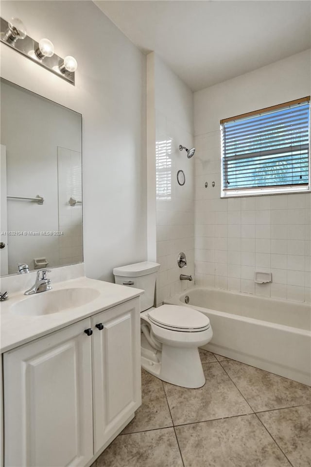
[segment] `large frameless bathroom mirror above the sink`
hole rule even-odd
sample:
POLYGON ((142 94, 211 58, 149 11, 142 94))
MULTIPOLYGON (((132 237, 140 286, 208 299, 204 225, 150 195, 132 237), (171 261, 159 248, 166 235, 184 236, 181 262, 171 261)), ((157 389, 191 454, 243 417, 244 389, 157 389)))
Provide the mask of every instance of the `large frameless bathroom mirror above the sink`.
POLYGON ((1 79, 1 276, 83 261, 82 116, 1 79))

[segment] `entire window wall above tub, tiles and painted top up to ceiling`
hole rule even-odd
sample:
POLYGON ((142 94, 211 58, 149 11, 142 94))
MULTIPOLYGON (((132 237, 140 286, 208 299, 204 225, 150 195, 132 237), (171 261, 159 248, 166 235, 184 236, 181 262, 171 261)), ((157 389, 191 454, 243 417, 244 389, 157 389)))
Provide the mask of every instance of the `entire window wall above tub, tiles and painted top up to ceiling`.
POLYGON ((310 95, 310 65, 301 52, 194 93, 196 284, 310 301, 311 194, 220 199, 219 123, 310 95), (255 270, 273 283, 255 284, 255 270))

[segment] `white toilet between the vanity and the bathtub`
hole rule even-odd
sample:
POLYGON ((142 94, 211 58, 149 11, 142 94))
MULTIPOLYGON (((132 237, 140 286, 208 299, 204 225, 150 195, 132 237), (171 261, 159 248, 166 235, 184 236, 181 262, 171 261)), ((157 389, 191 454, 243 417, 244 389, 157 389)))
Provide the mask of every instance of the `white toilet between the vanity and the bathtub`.
POLYGON ((114 268, 116 284, 143 289, 141 295, 141 366, 163 381, 187 388, 205 384, 198 347, 213 331, 207 316, 189 307, 154 308, 155 279, 160 265, 144 261, 114 268))

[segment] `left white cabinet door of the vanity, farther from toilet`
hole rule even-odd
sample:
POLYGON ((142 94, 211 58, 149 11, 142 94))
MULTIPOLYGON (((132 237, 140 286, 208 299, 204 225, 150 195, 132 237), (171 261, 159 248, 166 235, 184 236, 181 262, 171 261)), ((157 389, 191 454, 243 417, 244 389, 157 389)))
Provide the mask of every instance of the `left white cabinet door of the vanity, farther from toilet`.
POLYGON ((5 467, 85 466, 93 456, 90 321, 4 354, 5 467))

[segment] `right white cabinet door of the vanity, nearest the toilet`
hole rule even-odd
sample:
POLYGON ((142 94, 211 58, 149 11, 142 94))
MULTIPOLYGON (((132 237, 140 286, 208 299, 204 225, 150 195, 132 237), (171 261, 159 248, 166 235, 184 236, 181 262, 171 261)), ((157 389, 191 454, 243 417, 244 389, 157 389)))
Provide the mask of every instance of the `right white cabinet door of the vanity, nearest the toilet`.
POLYGON ((139 314, 135 298, 92 318, 95 453, 141 404, 139 314))

